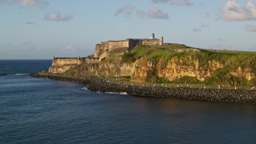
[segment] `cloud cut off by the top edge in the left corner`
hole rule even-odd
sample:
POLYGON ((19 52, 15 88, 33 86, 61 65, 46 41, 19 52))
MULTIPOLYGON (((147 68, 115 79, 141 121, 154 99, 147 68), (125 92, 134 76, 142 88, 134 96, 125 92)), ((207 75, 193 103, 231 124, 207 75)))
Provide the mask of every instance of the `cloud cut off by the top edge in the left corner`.
POLYGON ((19 6, 46 6, 48 2, 46 0, 0 0, 0 4, 17 4, 19 6))

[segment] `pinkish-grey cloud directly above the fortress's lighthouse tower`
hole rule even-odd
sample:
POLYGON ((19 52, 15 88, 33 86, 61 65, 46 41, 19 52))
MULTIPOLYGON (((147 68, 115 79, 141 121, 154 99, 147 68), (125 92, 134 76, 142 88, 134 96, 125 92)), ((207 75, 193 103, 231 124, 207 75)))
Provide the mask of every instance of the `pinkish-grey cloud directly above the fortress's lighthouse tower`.
POLYGON ((147 11, 137 10, 136 14, 139 18, 169 19, 169 14, 154 6, 150 6, 147 11))

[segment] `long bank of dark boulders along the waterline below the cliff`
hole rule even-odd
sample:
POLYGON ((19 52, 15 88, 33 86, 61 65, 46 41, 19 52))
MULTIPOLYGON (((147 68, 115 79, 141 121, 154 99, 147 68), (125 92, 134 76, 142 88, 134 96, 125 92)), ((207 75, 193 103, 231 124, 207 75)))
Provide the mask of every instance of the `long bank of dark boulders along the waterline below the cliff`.
POLYGON ((131 86, 114 83, 105 78, 68 78, 55 75, 31 74, 32 77, 50 78, 55 80, 80 82, 88 90, 101 92, 123 93, 139 97, 178 98, 212 102, 245 102, 256 103, 256 90, 246 89, 211 89, 190 87, 162 87, 162 86, 131 86))

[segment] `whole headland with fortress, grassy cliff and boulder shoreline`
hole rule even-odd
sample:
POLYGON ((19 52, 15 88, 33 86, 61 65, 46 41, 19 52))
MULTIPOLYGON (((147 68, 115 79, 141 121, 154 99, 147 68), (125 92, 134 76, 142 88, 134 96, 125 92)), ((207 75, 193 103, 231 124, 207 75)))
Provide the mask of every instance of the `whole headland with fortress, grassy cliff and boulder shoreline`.
POLYGON ((256 102, 255 52, 206 50, 165 43, 163 37, 155 38, 154 34, 151 38, 98 43, 94 54, 86 57, 54 57, 49 70, 33 76, 78 81, 85 83, 89 90, 126 92, 134 96, 256 102), (110 78, 125 78, 125 82, 112 82, 110 78))

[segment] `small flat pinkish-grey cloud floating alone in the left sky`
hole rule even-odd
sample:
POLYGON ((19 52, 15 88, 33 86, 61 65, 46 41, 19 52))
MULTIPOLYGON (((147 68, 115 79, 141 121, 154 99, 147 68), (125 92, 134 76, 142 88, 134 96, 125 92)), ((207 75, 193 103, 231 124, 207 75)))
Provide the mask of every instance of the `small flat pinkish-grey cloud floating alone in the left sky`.
POLYGON ((61 13, 51 13, 45 15, 46 21, 53 21, 53 22, 66 22, 70 21, 73 18, 72 14, 67 14, 66 16, 62 16, 61 13))

